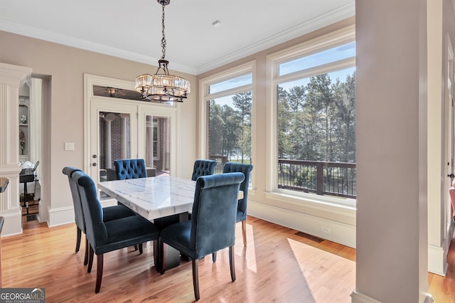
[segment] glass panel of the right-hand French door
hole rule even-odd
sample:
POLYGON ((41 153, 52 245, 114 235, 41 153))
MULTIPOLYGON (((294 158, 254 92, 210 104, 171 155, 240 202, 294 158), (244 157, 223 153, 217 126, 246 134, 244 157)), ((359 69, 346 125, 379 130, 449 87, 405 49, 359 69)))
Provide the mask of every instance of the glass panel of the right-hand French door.
POLYGON ((145 163, 156 176, 169 175, 170 134, 169 117, 146 115, 145 163))

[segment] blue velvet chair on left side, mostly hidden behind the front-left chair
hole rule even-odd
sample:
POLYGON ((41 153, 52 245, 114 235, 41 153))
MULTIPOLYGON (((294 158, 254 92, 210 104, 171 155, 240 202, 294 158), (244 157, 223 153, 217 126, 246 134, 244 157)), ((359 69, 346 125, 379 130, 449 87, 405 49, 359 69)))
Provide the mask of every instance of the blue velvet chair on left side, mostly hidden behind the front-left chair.
MULTIPOLYGON (((65 166, 63 168, 63 174, 68 176, 68 181, 70 183, 71 195, 73 196, 73 206, 74 206, 74 215, 76 223, 76 249, 75 252, 79 251, 80 240, 82 238, 82 233, 85 234, 85 219, 84 213, 82 212, 82 203, 80 201, 79 191, 77 190, 77 184, 73 179, 73 174, 75 171, 81 171, 73 166, 65 166)), ((103 211, 103 220, 109 221, 118 218, 124 218, 129 216, 137 216, 134 211, 127 208, 126 206, 108 206, 102 208, 103 211)), ((139 248, 141 249, 141 248, 139 248)), ((87 265, 89 258, 89 249, 88 249, 88 240, 85 237, 85 257, 84 265, 87 265)))

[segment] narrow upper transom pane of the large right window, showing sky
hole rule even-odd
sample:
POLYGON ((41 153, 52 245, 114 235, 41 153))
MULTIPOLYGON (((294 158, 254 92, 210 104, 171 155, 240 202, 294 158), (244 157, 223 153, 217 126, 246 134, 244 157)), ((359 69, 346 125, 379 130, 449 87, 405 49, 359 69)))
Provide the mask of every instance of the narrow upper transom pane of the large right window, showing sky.
POLYGON ((351 57, 355 57, 355 42, 282 63, 279 65, 279 75, 287 75, 298 70, 306 70, 307 68, 314 68, 315 66, 351 57))

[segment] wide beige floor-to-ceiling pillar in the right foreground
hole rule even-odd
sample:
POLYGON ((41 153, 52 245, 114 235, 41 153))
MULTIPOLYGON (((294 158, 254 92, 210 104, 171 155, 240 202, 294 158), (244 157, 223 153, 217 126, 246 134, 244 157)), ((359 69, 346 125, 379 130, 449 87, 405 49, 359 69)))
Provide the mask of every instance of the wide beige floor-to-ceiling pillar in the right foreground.
POLYGON ((352 302, 427 297, 426 0, 356 0, 352 302))

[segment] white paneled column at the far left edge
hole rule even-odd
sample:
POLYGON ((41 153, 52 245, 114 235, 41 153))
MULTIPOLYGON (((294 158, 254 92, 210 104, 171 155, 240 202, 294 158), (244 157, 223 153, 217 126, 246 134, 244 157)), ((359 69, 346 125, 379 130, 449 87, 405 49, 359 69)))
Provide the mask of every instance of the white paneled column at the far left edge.
POLYGON ((19 87, 31 78, 31 68, 0 63, 0 176, 9 186, 0 194, 2 235, 22 233, 19 207, 19 87))

